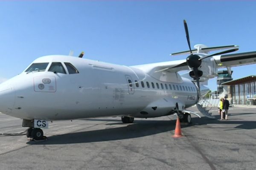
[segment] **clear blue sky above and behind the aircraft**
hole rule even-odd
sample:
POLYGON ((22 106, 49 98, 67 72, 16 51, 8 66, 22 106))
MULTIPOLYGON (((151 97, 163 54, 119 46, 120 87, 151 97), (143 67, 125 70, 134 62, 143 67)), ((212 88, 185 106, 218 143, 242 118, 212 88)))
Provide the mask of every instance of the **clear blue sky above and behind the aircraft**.
MULTIPOLYGON (((256 1, 0 1, 0 81, 34 59, 85 52, 88 59, 140 65, 185 59, 169 54, 192 46, 239 45, 256 51, 256 1)), ((256 74, 255 65, 232 69, 256 74)), ((216 79, 209 81, 216 90, 216 79)))

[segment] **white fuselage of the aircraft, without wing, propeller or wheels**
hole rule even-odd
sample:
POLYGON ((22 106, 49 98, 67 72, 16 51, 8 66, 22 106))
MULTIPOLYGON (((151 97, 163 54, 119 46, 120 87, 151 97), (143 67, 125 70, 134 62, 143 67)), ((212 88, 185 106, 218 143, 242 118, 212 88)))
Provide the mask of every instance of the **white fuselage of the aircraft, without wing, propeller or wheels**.
MULTIPOLYGON (((163 82, 134 67, 70 56, 47 56, 45 71, 24 71, 0 85, 0 112, 21 119, 79 119, 126 115, 157 117, 170 114, 178 103, 187 108, 198 100, 195 84, 186 78, 163 82), (48 71, 54 62, 66 74, 48 71), (71 63, 79 71, 69 74, 71 63)), ((178 74, 177 74, 178 76, 178 74)))

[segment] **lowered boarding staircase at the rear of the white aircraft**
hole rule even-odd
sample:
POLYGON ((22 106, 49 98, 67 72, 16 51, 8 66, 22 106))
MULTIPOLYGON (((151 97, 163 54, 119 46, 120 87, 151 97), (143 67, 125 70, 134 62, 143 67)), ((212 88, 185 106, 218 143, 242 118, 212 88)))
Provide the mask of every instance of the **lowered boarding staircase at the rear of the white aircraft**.
POLYGON ((198 108, 198 111, 200 111, 200 113, 202 113, 204 116, 210 119, 215 119, 215 116, 212 116, 212 113, 209 113, 213 106, 206 99, 200 98, 199 102, 196 104, 196 107, 198 108))

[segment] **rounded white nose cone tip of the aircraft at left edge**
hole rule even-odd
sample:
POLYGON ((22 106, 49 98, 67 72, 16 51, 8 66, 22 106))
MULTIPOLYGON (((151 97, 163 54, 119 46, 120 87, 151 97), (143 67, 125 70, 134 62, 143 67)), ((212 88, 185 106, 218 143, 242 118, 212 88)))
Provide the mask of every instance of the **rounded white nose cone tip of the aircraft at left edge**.
POLYGON ((0 85, 0 112, 12 113, 15 104, 15 90, 12 85, 0 85))

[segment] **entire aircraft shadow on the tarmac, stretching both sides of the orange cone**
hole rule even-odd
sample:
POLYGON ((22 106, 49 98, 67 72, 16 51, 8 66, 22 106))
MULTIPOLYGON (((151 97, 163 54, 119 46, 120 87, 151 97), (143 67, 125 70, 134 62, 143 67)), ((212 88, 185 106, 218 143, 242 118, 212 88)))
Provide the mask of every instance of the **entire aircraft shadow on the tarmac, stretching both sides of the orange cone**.
MULTIPOLYGON (((244 113, 249 114, 249 113, 244 113)), ((235 116, 235 114, 233 115, 235 116)), ((256 121, 232 120, 232 115, 229 120, 220 121, 218 119, 209 119, 207 117, 192 118, 192 124, 181 125, 182 128, 190 126, 200 126, 209 124, 236 124, 233 130, 238 129, 256 129, 256 121)), ((87 119, 88 120, 88 119, 87 119)), ((93 120, 93 119, 92 119, 93 120)), ((122 122, 115 119, 94 119, 95 121, 108 121, 115 123, 107 123, 106 125, 120 125, 122 122)), ((218 128, 218 127, 216 127, 218 128)), ((49 136, 48 141, 44 142, 27 142, 27 144, 75 144, 88 142, 104 142, 122 139, 132 139, 143 136, 154 135, 158 133, 168 132, 175 129, 175 120, 137 120, 133 124, 128 124, 123 127, 109 127, 106 129, 89 130, 84 132, 66 133, 56 136, 49 136)))

